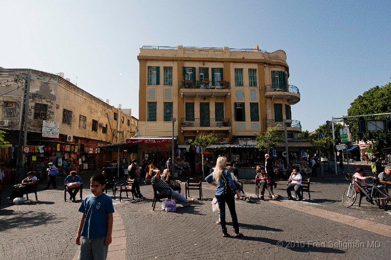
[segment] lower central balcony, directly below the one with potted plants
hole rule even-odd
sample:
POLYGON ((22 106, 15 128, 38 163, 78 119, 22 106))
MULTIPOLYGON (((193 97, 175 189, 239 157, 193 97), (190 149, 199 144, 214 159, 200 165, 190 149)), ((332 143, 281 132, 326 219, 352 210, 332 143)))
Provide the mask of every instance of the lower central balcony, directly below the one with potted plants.
POLYGON ((229 118, 225 119, 199 119, 192 118, 186 119, 182 118, 180 122, 181 131, 207 131, 207 130, 231 130, 231 120, 229 118))

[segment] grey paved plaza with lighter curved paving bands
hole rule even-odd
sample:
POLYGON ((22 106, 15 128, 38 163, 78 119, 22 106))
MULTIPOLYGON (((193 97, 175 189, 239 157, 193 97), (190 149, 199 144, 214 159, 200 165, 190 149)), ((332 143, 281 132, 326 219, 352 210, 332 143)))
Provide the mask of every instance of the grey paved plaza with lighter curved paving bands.
MULTIPOLYGON (((93 173, 81 174, 85 183, 93 173)), ((65 202, 63 190, 43 191, 43 184, 38 201, 22 205, 7 204, 11 187, 3 187, 0 259, 77 259, 74 238, 80 201, 65 202)), ((365 199, 361 207, 357 202, 344 207, 341 197, 348 182, 340 175, 325 172, 322 180, 318 171, 318 178, 311 179, 311 200, 304 193, 304 201, 286 200, 286 181, 278 181, 275 189, 281 200, 261 201, 255 196, 254 182, 244 181, 244 190, 255 197, 255 203, 236 202, 244 234, 240 239, 222 237, 211 206, 214 188, 206 182, 202 185, 203 198, 190 207, 179 205, 174 213, 161 211, 159 202, 152 211, 151 185, 141 186, 145 200, 113 200, 116 213, 109 259, 389 259, 391 212, 365 199)), ((90 193, 86 187, 83 197, 90 193)), ((197 198, 197 191, 191 191, 191 196, 197 198)), ((33 194, 29 198, 35 199, 33 194)), ((227 221, 233 235, 228 213, 227 221)))

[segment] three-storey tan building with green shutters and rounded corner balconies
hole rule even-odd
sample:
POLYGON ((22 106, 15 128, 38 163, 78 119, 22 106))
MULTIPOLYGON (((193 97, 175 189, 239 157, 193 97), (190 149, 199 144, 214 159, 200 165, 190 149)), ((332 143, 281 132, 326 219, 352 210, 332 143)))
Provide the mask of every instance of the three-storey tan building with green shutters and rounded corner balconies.
MULTIPOLYGON (((300 92, 288 83, 284 51, 144 46, 137 58, 141 137, 171 137, 175 118, 175 151, 201 132, 214 132, 231 160, 257 162, 254 135, 269 127, 283 131, 284 120, 291 120, 288 139, 295 146, 301 125, 292 120, 291 105, 300 92)), ((147 147, 139 147, 139 156, 146 154, 147 147)))

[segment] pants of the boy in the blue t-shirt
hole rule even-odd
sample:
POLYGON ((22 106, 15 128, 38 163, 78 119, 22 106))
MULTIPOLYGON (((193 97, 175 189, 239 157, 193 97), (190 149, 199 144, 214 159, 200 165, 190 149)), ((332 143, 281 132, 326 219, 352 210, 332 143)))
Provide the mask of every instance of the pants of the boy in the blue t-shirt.
POLYGON ((109 246, 105 245, 105 238, 83 237, 78 260, 106 260, 109 246))

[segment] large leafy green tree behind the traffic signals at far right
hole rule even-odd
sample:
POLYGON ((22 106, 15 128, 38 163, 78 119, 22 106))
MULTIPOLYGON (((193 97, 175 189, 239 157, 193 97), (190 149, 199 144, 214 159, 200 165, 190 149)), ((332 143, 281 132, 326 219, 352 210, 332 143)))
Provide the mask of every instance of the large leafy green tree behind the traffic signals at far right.
MULTIPOLYGON (((363 95, 358 96, 348 109, 348 116, 360 116, 371 114, 391 113, 391 82, 385 86, 376 86, 363 95)), ((385 120, 387 116, 366 117, 365 120, 385 120)), ((352 140, 373 140, 374 149, 377 152, 382 151, 384 147, 391 146, 391 133, 381 131, 371 131, 367 133, 358 133, 358 118, 347 119, 349 125, 350 136, 352 140)))

